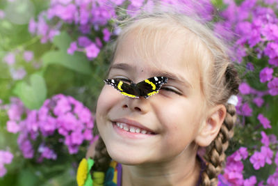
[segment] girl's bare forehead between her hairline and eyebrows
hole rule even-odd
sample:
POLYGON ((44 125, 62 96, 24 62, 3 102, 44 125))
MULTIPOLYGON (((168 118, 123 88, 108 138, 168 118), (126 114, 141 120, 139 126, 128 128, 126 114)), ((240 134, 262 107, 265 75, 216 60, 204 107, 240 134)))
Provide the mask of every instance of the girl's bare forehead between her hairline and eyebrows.
POLYGON ((195 48, 188 31, 133 29, 120 38, 113 63, 129 63, 145 72, 155 69, 189 72, 196 78, 199 70, 195 48))

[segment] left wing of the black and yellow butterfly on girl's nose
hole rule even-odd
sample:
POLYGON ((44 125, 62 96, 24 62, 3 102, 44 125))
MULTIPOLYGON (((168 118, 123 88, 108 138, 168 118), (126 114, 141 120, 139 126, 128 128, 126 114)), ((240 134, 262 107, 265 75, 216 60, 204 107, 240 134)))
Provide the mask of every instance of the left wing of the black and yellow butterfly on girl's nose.
POLYGON ((117 91, 120 91, 122 95, 129 96, 130 98, 139 98, 139 94, 135 86, 126 84, 120 79, 104 79, 104 82, 113 86, 115 89, 117 89, 117 91))

